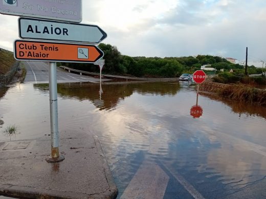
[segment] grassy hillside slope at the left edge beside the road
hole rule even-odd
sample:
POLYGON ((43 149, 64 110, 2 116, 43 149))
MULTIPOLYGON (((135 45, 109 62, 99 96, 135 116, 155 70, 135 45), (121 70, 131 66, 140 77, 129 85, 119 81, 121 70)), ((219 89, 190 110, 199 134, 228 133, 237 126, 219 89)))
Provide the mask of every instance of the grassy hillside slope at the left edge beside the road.
POLYGON ((13 53, 0 48, 0 74, 5 74, 14 64, 13 53))

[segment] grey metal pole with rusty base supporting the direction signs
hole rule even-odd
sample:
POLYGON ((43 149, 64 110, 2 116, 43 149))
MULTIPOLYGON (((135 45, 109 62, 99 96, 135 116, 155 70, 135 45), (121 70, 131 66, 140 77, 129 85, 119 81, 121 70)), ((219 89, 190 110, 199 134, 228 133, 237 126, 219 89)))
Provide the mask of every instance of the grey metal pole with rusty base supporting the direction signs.
POLYGON ((56 63, 49 62, 49 65, 51 158, 47 159, 46 161, 60 162, 64 160, 64 157, 59 155, 56 63))

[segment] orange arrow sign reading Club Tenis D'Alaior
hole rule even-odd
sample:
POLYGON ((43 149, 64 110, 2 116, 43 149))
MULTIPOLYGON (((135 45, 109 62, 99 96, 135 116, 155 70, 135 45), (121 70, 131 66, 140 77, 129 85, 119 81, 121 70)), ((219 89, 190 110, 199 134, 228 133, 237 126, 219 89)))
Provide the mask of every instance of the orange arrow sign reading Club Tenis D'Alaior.
POLYGON ((14 41, 16 60, 94 63, 103 57, 95 45, 42 41, 14 41))

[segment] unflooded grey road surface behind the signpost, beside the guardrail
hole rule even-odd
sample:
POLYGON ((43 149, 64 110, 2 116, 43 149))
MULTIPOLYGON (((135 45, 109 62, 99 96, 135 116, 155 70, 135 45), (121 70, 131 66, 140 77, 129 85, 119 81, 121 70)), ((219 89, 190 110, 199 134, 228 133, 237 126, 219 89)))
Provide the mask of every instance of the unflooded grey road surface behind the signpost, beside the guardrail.
MULTIPOLYGON (((24 81, 25 83, 49 82, 49 62, 24 61, 23 64, 27 70, 27 75, 24 81)), ((69 73, 64 71, 63 69, 57 68, 57 82, 100 82, 100 79, 90 76, 80 76, 79 74, 69 73)))

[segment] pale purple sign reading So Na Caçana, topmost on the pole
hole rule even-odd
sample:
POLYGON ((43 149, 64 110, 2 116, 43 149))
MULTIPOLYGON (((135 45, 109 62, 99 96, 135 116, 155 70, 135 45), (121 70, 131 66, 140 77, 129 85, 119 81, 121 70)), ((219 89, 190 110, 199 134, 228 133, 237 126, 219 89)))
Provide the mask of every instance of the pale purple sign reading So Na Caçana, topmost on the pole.
POLYGON ((0 0, 0 13, 16 16, 81 22, 81 10, 81 0, 0 0))

